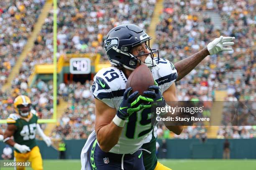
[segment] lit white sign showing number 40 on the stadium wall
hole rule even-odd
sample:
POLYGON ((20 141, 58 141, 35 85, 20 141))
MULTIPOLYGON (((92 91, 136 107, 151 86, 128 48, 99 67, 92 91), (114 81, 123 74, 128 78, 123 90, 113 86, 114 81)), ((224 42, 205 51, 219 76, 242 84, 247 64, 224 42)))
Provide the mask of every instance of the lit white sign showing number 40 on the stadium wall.
POLYGON ((70 59, 69 72, 71 74, 89 74, 91 72, 91 60, 89 58, 70 59))

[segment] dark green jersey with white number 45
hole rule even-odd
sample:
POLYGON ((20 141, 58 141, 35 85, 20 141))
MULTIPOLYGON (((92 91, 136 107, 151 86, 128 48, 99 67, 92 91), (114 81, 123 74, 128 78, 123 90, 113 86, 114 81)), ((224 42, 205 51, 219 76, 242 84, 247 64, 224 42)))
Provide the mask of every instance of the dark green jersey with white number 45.
MULTIPOLYGON (((38 117, 36 112, 31 111, 28 117, 21 117, 18 114, 11 114, 8 119, 8 124, 14 124, 17 130, 13 134, 15 143, 26 145, 30 149, 36 146, 36 124, 38 117)), ((15 149, 19 153, 18 150, 15 149)))

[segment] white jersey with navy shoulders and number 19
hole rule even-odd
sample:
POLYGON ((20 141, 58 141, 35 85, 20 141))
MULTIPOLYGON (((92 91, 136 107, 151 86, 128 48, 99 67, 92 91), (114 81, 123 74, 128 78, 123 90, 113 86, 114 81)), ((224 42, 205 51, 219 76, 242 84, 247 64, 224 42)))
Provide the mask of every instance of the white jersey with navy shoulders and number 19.
MULTIPOLYGON (((177 79, 177 70, 168 60, 159 60, 159 70, 151 69, 154 80, 159 84, 161 92, 167 90, 177 79)), ((127 79, 124 73, 116 67, 103 68, 94 77, 91 91, 95 98, 101 100, 109 107, 118 110, 123 99, 127 79)), ((152 137, 151 116, 155 112, 151 108, 134 112, 127 120, 118 143, 110 153, 128 154, 135 153, 146 138, 152 137)), ((148 139, 147 139, 148 140, 148 139)), ((149 139, 150 141, 150 139, 149 139)))

